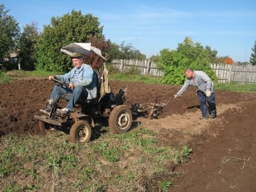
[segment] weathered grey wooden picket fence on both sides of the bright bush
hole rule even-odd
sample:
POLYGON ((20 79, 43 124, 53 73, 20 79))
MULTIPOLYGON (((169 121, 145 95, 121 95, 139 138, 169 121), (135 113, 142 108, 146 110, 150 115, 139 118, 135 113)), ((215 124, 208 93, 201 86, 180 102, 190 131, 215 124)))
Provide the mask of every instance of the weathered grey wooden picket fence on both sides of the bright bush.
MULTIPOLYGON (((150 60, 125 60, 114 59, 113 66, 125 73, 129 70, 137 70, 139 74, 162 77, 163 70, 159 69, 156 63, 150 60)), ((256 66, 251 65, 227 65, 227 64, 211 64, 211 69, 215 71, 219 83, 256 83, 256 66)))

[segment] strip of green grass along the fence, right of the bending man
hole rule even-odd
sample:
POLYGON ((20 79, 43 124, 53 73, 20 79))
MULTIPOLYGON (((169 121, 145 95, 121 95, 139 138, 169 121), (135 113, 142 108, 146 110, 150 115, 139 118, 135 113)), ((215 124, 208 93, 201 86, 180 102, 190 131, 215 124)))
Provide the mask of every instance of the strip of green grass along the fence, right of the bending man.
POLYGON ((239 83, 217 83, 216 90, 237 91, 243 93, 256 93, 256 83, 254 84, 239 84, 239 83))

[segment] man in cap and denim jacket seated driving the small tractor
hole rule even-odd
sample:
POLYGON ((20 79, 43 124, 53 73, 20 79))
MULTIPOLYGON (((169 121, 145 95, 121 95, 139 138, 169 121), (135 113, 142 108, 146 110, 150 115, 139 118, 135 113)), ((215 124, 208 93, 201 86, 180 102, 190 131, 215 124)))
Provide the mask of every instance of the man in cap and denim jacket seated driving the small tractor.
POLYGON ((82 54, 73 53, 70 56, 72 59, 73 65, 75 66, 69 73, 64 75, 51 75, 49 80, 58 79, 64 83, 67 83, 68 87, 60 87, 55 85, 53 91, 51 92, 50 99, 48 104, 53 102, 53 99, 58 99, 58 90, 59 94, 71 93, 72 96, 67 102, 67 106, 63 109, 57 109, 57 115, 67 116, 70 111, 73 111, 75 103, 79 98, 81 99, 94 99, 97 97, 97 77, 94 75, 93 69, 90 65, 83 63, 82 54))

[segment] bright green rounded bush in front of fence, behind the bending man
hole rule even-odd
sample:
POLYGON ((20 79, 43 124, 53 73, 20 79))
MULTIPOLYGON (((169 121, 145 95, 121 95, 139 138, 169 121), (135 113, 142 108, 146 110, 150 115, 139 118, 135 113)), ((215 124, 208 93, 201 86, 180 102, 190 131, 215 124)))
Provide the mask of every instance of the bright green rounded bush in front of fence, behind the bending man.
POLYGON ((209 65, 210 57, 209 47, 204 48, 201 43, 194 43, 188 37, 178 43, 177 50, 161 50, 157 63, 164 70, 162 82, 181 85, 185 81, 184 71, 187 67, 203 70, 215 80, 216 75, 209 65))

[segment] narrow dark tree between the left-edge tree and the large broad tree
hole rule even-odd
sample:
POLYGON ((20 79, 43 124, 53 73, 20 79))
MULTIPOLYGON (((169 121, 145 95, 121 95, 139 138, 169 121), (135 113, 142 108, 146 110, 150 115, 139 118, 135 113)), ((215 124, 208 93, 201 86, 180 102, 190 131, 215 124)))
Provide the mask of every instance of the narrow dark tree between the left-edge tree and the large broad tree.
POLYGON ((36 62, 36 43, 38 40, 37 23, 33 22, 26 25, 23 33, 19 38, 18 43, 18 57, 20 59, 21 69, 34 70, 36 62))

